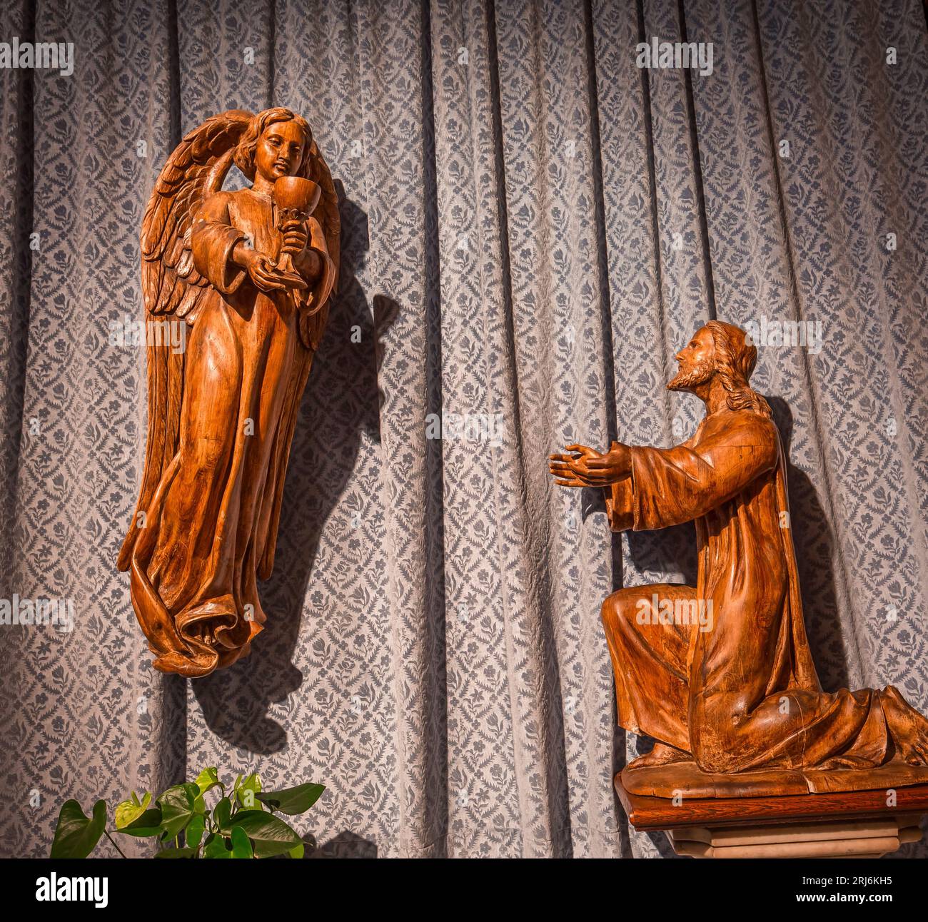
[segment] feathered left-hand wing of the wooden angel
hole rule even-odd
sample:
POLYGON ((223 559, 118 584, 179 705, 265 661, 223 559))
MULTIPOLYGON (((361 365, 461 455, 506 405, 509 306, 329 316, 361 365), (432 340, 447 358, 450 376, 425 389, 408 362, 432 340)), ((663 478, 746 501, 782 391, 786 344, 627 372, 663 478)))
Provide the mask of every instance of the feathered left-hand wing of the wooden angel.
MULTIPOLYGON (((183 318, 192 325, 209 283, 193 266, 190 228, 200 203, 226 179, 251 112, 230 109, 187 134, 164 164, 142 221, 142 296, 145 320, 183 318)), ((329 179, 329 182, 331 180, 329 179)), ((184 352, 148 345, 148 445, 135 516, 118 560, 127 570, 144 513, 177 452, 184 390, 184 352), (139 514, 143 514, 140 516, 139 514)))

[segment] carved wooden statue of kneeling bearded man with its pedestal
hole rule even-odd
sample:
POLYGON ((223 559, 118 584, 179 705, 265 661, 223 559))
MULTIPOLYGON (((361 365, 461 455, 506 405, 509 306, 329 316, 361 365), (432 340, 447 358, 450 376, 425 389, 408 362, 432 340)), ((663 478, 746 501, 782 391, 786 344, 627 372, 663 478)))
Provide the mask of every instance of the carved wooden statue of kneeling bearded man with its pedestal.
POLYGON ((695 586, 636 586, 602 607, 619 724, 656 740, 616 788, 636 826, 673 830, 682 853, 894 851, 928 811, 928 721, 892 685, 819 685, 780 437, 748 383, 756 356, 711 321, 667 385, 705 403, 690 439, 550 456, 561 486, 606 491, 613 531, 696 525, 695 586))

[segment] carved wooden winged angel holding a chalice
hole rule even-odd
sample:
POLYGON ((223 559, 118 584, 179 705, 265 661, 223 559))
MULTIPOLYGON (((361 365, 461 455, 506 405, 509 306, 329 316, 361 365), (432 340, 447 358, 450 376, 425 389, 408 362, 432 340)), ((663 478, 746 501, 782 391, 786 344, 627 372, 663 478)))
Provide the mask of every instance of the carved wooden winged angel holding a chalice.
POLYGON ((146 320, 186 324, 186 348, 148 336, 145 471, 118 566, 130 571, 161 672, 207 675, 246 656, 262 630, 257 580, 274 565, 339 231, 329 168, 290 109, 208 119, 174 150, 151 194, 141 237, 146 320), (222 191, 233 162, 251 188, 222 191))

